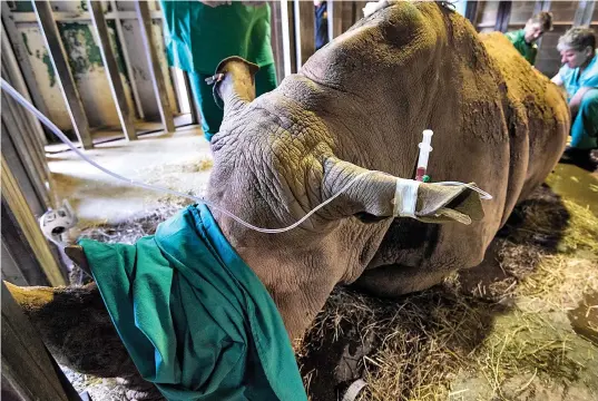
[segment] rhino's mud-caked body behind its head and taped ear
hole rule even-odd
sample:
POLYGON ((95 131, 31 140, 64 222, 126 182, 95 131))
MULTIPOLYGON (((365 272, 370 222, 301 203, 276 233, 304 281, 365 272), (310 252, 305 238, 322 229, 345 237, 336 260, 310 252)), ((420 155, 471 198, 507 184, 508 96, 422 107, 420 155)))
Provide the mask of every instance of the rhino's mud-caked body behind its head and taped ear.
MULTIPOLYGON (((420 282, 425 286, 477 265, 516 203, 557 162, 566 105, 504 40, 480 38, 435 3, 401 2, 357 22, 287 82, 304 88, 297 101, 321 110, 340 158, 413 177, 416 144, 431 128, 433 180, 474 182, 493 195, 484 219, 471 226, 395 221, 369 268, 431 271, 433 278, 420 282)), ((412 284, 391 293, 419 288, 412 284)))

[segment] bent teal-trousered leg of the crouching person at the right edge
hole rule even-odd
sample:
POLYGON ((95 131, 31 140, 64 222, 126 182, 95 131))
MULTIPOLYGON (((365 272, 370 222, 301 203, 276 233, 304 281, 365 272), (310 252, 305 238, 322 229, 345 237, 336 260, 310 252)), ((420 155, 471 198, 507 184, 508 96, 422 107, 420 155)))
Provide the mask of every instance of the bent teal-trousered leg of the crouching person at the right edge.
POLYGON ((579 111, 571 125, 571 147, 598 147, 598 89, 591 89, 581 99, 579 111))

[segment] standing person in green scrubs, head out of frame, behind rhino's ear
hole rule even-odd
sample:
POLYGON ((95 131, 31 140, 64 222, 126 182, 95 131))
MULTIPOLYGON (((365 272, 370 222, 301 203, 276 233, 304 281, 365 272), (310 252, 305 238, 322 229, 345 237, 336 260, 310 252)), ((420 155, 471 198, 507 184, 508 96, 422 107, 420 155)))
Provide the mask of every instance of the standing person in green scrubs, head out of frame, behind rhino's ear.
POLYGON ((188 72, 204 135, 212 140, 219 130, 223 110, 205 79, 223 59, 239 56, 259 66, 256 96, 276 88, 269 6, 265 1, 220 0, 160 0, 160 6, 168 62, 188 72))

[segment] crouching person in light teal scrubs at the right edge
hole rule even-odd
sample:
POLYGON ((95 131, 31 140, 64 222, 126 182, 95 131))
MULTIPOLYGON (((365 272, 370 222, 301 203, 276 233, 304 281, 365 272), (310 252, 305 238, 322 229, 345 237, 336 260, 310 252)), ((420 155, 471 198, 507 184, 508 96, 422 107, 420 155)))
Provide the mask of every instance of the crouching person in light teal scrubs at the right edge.
POLYGON ((563 66, 552 82, 567 91, 571 110, 571 143, 561 162, 591 164, 598 147, 598 56, 596 35, 589 28, 571 28, 559 39, 563 66))

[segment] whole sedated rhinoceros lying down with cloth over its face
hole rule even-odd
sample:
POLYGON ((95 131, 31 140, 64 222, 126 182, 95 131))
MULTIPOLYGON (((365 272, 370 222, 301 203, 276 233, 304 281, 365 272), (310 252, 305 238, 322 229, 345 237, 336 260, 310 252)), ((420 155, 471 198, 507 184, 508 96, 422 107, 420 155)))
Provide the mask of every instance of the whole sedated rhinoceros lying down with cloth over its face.
MULTIPOLYGON (((212 211, 292 339, 335 285, 392 297, 478 265, 565 148, 563 96, 501 33, 478 35, 442 3, 383 1, 378 8, 258 98, 255 66, 231 58, 216 71, 224 74, 217 94, 225 116, 212 141, 210 203, 280 228, 363 172, 380 172, 360 176, 281 234, 212 211), (493 196, 472 224, 393 217, 394 177, 414 176, 424 129, 434 131, 433 182, 477 183, 493 196)), ((422 184, 420 193, 421 214, 447 204, 432 185, 422 184)), ((70 254, 85 265, 80 251, 70 254)), ((101 376, 131 369, 94 284, 11 292, 60 362, 101 376)))

